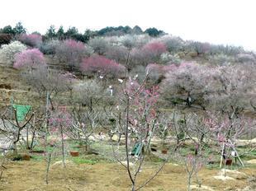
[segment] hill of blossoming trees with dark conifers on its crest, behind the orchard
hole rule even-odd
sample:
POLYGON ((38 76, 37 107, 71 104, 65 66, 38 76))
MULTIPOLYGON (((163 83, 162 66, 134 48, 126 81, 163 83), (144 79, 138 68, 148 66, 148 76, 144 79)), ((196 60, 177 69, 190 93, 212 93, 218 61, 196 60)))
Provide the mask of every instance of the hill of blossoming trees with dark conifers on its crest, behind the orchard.
POLYGON ((182 40, 139 26, 106 27, 84 34, 75 27, 64 31, 50 26, 40 35, 26 34, 18 23, 0 31, 2 103, 10 97, 18 102, 38 98, 44 102, 49 89, 53 101, 58 95, 62 104, 68 104, 66 95, 77 84, 102 77, 117 92, 118 79, 136 77, 141 83, 148 73, 146 86, 158 86, 163 107, 238 113, 256 108, 256 56, 242 47, 182 40))

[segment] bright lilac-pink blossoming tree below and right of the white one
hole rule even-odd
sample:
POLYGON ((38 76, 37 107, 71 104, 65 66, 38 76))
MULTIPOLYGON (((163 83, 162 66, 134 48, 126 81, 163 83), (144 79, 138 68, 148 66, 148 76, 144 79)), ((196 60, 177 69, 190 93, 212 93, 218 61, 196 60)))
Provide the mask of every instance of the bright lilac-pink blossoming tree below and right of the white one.
POLYGON ((15 55, 13 68, 35 68, 38 65, 45 65, 44 55, 39 49, 26 49, 15 55))

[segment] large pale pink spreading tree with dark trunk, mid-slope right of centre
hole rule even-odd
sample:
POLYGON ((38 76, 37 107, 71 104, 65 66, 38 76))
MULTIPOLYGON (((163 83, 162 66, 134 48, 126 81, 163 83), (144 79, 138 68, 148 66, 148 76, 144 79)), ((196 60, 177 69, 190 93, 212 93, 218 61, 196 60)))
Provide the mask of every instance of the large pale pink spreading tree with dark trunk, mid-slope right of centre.
POLYGON ((164 97, 173 104, 195 104, 205 109, 204 96, 208 93, 214 76, 214 68, 195 63, 182 63, 166 73, 162 84, 164 97))

